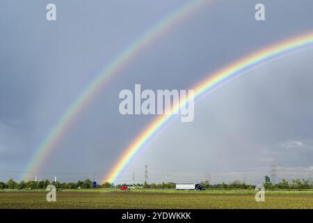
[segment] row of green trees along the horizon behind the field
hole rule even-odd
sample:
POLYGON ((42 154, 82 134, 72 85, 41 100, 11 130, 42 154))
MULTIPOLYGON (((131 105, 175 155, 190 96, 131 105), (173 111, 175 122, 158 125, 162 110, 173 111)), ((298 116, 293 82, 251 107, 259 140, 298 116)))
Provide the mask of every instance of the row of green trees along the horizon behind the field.
MULTIPOLYGON (((93 182, 90 179, 86 180, 79 180, 77 183, 60 183, 58 181, 50 182, 49 180, 40 180, 40 181, 33 181, 29 180, 25 182, 24 180, 19 181, 18 183, 15 182, 13 179, 8 180, 6 183, 0 182, 0 190, 2 189, 46 189, 47 185, 55 185, 58 189, 88 189, 93 187, 93 182)), ((126 184, 123 184, 126 185, 126 184)), ((175 188, 175 183, 151 183, 147 184, 146 182, 143 184, 136 184, 136 185, 127 185, 135 188, 145 188, 145 189, 173 189, 175 188)), ((242 189, 242 190, 252 190, 255 188, 255 185, 248 185, 244 182, 240 182, 239 180, 235 180, 232 183, 220 183, 220 184, 214 184, 211 185, 209 181, 202 181, 200 183, 202 189, 207 190, 232 190, 232 189, 242 189)), ((103 183, 101 185, 97 184, 97 188, 120 188, 120 184, 113 185, 113 183, 103 183)), ((271 184, 266 183, 264 184, 264 187, 266 189, 313 189, 313 183, 309 179, 303 179, 303 180, 292 180, 291 182, 288 182, 285 179, 282 179, 280 183, 278 184, 271 184)))

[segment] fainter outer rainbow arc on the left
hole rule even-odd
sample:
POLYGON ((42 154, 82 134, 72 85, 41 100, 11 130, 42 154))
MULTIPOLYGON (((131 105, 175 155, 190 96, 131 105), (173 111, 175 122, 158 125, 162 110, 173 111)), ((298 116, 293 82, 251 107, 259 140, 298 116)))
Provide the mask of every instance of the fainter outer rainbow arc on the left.
POLYGON ((209 3, 211 0, 192 0, 185 3, 178 10, 175 10, 173 13, 170 13, 168 17, 158 22, 156 25, 152 26, 151 29, 146 31, 143 36, 138 38, 134 43, 129 45, 121 54, 119 54, 111 63, 109 63, 102 72, 99 73, 93 79, 92 82, 88 84, 86 89, 84 89, 79 97, 65 110, 65 113, 59 118, 58 122, 52 130, 49 132, 47 137, 42 141, 42 144, 35 151, 35 154, 31 157, 31 160, 23 172, 21 178, 27 179, 30 176, 33 177, 37 169, 42 166, 42 163, 45 162, 49 153, 53 150, 56 142, 63 136, 65 130, 68 128, 70 123, 76 118, 81 109, 85 107, 88 103, 88 100, 93 97, 102 88, 102 86, 108 81, 109 77, 113 73, 120 70, 124 67, 130 59, 134 58, 138 52, 145 48, 145 46, 152 43, 158 36, 170 30, 172 26, 178 24, 184 18, 195 13, 196 10, 202 8, 204 4, 209 3))

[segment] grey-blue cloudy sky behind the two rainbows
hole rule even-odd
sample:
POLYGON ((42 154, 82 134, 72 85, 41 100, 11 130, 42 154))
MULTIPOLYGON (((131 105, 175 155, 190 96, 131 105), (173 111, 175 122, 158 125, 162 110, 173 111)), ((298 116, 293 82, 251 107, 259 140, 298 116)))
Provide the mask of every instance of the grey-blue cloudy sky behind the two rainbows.
MULTIPOLYGON (((58 118, 114 56, 188 1, 1 1, 0 180, 18 178, 58 118), (5 171, 6 170, 6 171, 5 171)), ((40 169, 40 178, 102 178, 154 116, 121 116, 122 89, 189 89, 207 74, 266 45, 313 30, 313 2, 212 1, 149 45, 88 102, 40 169), (49 173, 49 174, 45 174, 49 173), (51 174, 50 174, 51 173, 51 174), (72 173, 72 174, 67 174, 72 173)), ((167 125, 120 181, 259 183, 313 171, 313 49, 269 63, 205 95, 195 120, 167 125)))

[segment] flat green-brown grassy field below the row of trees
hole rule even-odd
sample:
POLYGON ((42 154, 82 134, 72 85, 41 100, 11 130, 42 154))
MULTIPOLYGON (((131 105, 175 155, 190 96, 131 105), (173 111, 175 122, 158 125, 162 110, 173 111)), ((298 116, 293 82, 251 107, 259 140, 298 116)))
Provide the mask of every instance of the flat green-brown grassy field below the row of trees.
POLYGON ((56 202, 45 191, 0 192, 0 208, 313 208, 313 191, 268 191, 265 202, 255 191, 63 190, 56 202))

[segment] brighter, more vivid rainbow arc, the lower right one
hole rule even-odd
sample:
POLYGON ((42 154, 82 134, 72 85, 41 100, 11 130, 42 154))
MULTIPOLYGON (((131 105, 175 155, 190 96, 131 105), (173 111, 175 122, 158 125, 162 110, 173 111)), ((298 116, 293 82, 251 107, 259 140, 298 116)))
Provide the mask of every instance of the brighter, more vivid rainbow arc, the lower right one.
MULTIPOLYGON (((243 59, 232 63, 230 66, 226 66, 214 74, 209 75, 209 78, 204 79, 203 82, 200 82, 200 84, 193 88, 195 89, 195 98, 199 98, 207 91, 223 84, 223 82, 227 81, 227 79, 237 77, 238 75, 250 70, 251 68, 259 66, 262 63, 266 63, 278 58, 279 56, 291 54, 292 52, 296 52, 312 45, 313 33, 311 32, 296 38, 285 40, 276 45, 263 48, 260 51, 252 53, 243 59)), ((179 105, 175 105, 174 110, 186 105, 187 102, 188 99, 180 102, 179 105)), ((141 148, 143 148, 143 146, 154 136, 154 134, 166 125, 168 121, 170 121, 173 116, 173 114, 163 115, 152 121, 152 123, 148 125, 147 128, 143 130, 143 132, 141 132, 141 134, 139 134, 139 136, 126 148, 124 155, 122 155, 122 157, 115 162, 113 169, 111 169, 109 175, 104 176, 103 181, 115 183, 115 180, 117 180, 121 171, 127 166, 127 164, 129 164, 131 159, 138 153, 138 151, 141 150, 141 148)))

